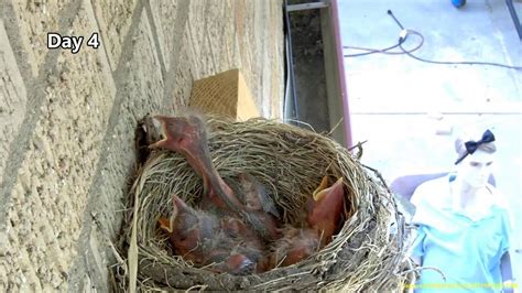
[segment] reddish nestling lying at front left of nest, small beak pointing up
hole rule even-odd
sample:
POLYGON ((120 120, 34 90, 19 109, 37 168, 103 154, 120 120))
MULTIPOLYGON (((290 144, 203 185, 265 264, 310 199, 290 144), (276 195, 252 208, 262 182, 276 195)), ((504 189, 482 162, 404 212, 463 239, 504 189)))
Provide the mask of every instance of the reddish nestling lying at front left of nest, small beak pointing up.
POLYGON ((258 270, 264 246, 238 218, 219 219, 174 195, 171 218, 161 217, 159 223, 168 234, 174 252, 197 267, 209 265, 215 272, 231 274, 258 270))

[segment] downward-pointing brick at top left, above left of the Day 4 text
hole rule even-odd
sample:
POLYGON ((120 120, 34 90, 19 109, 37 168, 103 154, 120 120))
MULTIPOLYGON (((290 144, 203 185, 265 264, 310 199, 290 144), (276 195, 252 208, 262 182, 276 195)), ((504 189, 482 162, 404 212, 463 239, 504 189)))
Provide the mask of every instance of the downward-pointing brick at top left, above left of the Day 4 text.
POLYGON ((17 1, 12 0, 20 26, 20 39, 28 53, 28 64, 34 77, 39 75, 47 48, 47 33, 57 32, 64 9, 72 0, 17 1))

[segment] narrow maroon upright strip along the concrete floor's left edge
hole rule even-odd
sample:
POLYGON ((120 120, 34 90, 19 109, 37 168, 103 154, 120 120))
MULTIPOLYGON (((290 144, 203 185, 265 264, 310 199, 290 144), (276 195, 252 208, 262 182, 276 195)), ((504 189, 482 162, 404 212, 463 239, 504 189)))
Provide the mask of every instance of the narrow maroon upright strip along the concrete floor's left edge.
POLYGON ((337 72, 340 87, 340 99, 342 101, 342 117, 345 123, 345 135, 346 135, 346 146, 352 146, 351 138, 351 122, 350 122, 350 108, 348 100, 348 91, 346 87, 346 75, 345 75, 345 59, 342 56, 342 42, 340 40, 340 25, 339 25, 339 11, 337 6, 337 0, 331 0, 331 21, 335 35, 335 46, 337 54, 337 72))

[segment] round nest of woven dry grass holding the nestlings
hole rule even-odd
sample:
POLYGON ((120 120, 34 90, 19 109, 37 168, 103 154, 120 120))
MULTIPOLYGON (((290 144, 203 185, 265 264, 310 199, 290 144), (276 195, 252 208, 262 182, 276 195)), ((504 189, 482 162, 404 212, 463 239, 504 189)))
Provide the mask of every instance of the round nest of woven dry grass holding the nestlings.
MULTIPOLYGON (((323 176, 342 177, 347 218, 326 247, 290 267, 231 275, 174 256, 159 229, 172 195, 196 205, 202 180, 178 153, 154 151, 139 170, 124 224, 127 264, 118 287, 156 290, 402 290, 414 275, 404 221, 380 175, 327 135, 265 119, 207 121, 214 164, 225 181, 248 173, 267 188, 285 224, 298 225, 323 176)), ((120 276, 121 273, 120 273, 120 276)))

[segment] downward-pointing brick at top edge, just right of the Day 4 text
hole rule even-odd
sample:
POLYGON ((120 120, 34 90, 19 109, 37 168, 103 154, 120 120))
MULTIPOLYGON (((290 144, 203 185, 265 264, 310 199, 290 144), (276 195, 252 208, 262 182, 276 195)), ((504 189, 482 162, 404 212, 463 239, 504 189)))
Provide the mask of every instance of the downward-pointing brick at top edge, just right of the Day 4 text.
POLYGON ((102 42, 109 56, 112 70, 118 67, 123 50, 123 41, 132 22, 137 0, 105 1, 94 0, 93 7, 100 26, 102 42))

